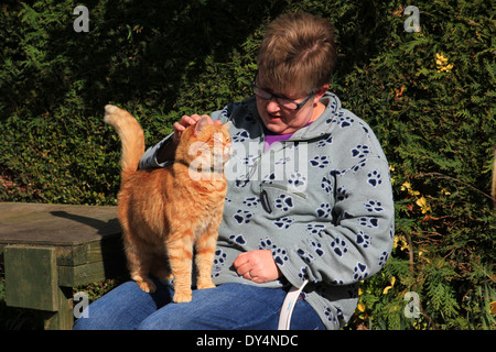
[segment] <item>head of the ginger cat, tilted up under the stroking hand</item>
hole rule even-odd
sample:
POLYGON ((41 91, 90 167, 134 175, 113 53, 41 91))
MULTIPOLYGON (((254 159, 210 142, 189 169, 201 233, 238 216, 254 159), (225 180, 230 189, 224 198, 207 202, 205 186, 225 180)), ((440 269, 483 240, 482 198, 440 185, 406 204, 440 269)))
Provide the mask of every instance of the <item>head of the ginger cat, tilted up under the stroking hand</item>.
POLYGON ((231 153, 231 122, 217 124, 204 117, 182 134, 175 152, 176 162, 190 165, 197 173, 223 173, 231 153))

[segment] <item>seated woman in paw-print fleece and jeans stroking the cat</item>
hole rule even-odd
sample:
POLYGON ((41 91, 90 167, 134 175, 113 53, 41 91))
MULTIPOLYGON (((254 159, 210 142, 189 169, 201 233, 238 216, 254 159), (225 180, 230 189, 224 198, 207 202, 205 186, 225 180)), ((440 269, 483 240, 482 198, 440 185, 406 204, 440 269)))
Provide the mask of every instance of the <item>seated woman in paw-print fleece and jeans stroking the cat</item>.
MULTIPOLYGON (((213 280, 188 304, 170 304, 126 283, 89 306, 78 329, 276 329, 285 294, 308 283, 291 329, 338 329, 352 317, 358 283, 387 262, 393 240, 389 167, 371 129, 328 90, 333 26, 287 14, 267 30, 255 97, 212 114, 233 122, 234 153, 213 280)), ((143 155, 172 161, 184 129, 143 155)))

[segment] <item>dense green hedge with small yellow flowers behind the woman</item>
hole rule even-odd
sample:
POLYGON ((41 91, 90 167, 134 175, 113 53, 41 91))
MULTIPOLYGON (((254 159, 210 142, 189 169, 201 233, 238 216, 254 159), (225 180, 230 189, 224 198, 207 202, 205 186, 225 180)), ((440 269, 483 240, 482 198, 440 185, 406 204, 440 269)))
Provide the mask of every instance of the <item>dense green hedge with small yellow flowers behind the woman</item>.
POLYGON ((0 6, 0 200, 115 205, 120 146, 104 106, 155 143, 182 114, 248 97, 267 23, 308 11, 334 22, 332 89, 391 164, 397 242, 349 328, 495 328, 490 1, 85 1, 88 33, 73 30, 77 4, 0 6), (405 31, 409 4, 420 32, 405 31))

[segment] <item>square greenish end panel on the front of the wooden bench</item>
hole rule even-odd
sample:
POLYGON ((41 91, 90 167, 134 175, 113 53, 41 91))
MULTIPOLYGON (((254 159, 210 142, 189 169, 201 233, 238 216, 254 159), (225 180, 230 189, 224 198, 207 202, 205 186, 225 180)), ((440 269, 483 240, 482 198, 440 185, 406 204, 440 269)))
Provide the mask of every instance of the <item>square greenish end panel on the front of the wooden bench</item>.
POLYGON ((58 310, 55 250, 8 245, 3 252, 7 305, 58 310))

